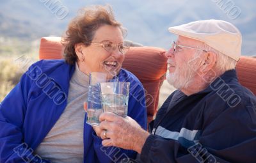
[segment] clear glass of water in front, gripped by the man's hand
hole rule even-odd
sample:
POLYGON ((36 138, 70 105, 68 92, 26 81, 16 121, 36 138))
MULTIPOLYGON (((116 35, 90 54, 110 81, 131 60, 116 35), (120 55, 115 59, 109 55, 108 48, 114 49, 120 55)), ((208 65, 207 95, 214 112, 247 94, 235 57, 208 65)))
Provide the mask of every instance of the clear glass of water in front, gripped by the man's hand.
POLYGON ((100 82, 102 108, 104 112, 126 117, 130 82, 100 82))

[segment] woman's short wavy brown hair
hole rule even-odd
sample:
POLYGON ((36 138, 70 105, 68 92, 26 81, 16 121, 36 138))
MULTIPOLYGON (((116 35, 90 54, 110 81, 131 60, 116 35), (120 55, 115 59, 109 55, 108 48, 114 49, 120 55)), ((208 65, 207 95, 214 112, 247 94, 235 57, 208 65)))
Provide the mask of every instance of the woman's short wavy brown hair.
POLYGON ((111 6, 90 6, 79 10, 77 17, 75 17, 68 24, 66 35, 61 39, 64 49, 64 59, 70 64, 74 65, 77 61, 75 51, 76 43, 83 42, 85 46, 89 46, 95 35, 95 31, 104 25, 119 27, 125 35, 126 31, 120 22, 115 20, 111 6))

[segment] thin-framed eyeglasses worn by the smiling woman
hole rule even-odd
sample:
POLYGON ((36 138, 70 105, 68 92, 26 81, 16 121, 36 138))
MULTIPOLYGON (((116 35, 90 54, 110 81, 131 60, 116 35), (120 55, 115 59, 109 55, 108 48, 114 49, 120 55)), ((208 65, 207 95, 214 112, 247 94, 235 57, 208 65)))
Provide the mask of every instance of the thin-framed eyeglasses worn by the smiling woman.
POLYGON ((130 47, 125 47, 123 43, 119 43, 119 44, 113 44, 113 43, 95 43, 95 42, 85 42, 85 43, 90 43, 93 45, 101 45, 101 47, 103 47, 105 50, 107 50, 108 52, 115 52, 116 48, 118 48, 118 50, 122 53, 125 54, 130 47))

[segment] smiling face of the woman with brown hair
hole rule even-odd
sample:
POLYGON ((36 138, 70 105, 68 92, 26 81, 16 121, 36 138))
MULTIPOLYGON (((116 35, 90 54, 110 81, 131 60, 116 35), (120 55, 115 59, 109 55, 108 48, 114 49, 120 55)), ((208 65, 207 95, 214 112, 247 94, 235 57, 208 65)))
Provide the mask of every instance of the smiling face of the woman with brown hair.
POLYGON ((123 35, 119 27, 109 25, 99 27, 88 47, 82 43, 76 45, 79 69, 87 75, 90 72, 106 72, 111 77, 117 75, 124 61, 124 54, 120 52, 118 45, 122 46, 123 43, 123 35), (95 43, 101 43, 108 50, 110 46, 115 48, 107 51, 102 45, 95 43), (84 61, 82 61, 82 53, 84 61))

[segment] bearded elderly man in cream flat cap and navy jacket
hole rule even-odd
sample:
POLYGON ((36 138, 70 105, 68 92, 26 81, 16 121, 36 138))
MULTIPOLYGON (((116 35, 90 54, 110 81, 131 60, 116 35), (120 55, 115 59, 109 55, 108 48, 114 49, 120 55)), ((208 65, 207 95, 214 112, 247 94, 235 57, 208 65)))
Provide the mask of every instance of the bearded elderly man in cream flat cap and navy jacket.
POLYGON ((104 146, 135 150, 138 162, 256 162, 256 98, 237 81, 241 33, 223 20, 170 27, 167 80, 177 88, 150 123, 100 115, 104 146))

